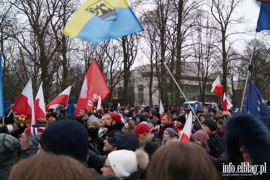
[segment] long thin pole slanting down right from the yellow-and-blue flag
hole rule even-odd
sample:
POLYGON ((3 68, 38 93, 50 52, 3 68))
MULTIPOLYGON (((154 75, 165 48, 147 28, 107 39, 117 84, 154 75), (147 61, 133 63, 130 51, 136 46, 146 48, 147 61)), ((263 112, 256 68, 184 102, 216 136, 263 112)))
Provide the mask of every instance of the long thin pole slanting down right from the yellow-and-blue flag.
MULTIPOLYGON (((145 32, 146 32, 146 31, 145 31, 145 32)), ((150 43, 152 44, 152 46, 154 47, 154 49, 155 49, 155 51, 157 52, 157 54, 159 55, 159 57, 160 57, 160 62, 162 62, 162 63, 164 64, 164 66, 166 67, 166 69, 167 69, 168 72, 170 73, 170 76, 172 77, 173 81, 175 82, 175 84, 176 84, 177 87, 179 88, 180 92, 182 93, 184 99, 186 100, 188 106, 190 107, 190 110, 192 111, 192 113, 194 114, 194 116, 196 117, 196 119, 198 120, 199 124, 200 124, 201 127, 202 127, 202 123, 200 122, 199 118, 196 116, 196 114, 195 114, 194 110, 192 109, 191 105, 190 105, 189 102, 187 101, 186 96, 184 95, 183 91, 181 90, 181 88, 179 87, 178 83, 177 83, 176 80, 174 79, 173 74, 170 72, 168 66, 167 66, 166 63, 164 62, 164 60, 163 60, 163 58, 161 57, 161 55, 159 54, 159 52, 158 52, 156 46, 153 44, 152 40, 149 38, 149 36, 148 36, 147 33, 146 33, 146 36, 147 36, 147 38, 149 39, 149 41, 150 41, 150 43)), ((206 131, 205 131, 205 129, 204 129, 203 127, 202 127, 202 130, 204 131, 204 133, 205 133, 206 136, 208 137, 208 134, 206 133, 206 131)), ((210 138, 208 137, 208 139, 210 139, 210 138)))

